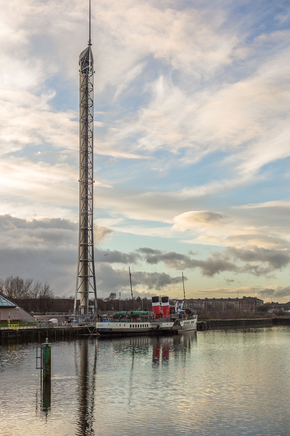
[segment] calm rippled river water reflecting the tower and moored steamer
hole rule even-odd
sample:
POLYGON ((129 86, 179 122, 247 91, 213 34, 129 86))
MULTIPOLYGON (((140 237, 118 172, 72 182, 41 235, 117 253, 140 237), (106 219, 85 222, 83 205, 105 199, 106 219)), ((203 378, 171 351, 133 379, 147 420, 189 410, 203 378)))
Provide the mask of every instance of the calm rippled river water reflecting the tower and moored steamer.
POLYGON ((1 436, 290 434, 290 327, 0 346, 1 436))

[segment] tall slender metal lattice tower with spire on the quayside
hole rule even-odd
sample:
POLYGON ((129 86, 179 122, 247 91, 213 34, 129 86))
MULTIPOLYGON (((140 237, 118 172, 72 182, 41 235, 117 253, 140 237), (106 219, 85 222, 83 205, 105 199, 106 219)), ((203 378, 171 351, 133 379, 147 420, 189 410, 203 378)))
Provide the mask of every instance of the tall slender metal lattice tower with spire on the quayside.
POLYGON ((79 55, 79 231, 78 270, 74 313, 86 315, 97 309, 93 237, 93 74, 91 49, 91 1, 89 2, 89 44, 79 55), (80 305, 76 307, 77 295, 80 305), (94 293, 95 304, 89 302, 94 293))

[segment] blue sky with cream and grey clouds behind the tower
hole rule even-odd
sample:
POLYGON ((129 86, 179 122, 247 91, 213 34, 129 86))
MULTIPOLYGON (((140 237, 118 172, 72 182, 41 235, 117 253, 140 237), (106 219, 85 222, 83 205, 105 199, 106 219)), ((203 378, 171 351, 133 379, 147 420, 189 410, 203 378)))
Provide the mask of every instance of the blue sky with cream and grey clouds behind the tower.
MULTIPOLYGON (((0 14, 0 277, 75 293, 89 0, 0 14)), ((290 3, 92 0, 98 296, 290 300, 290 3), (105 256, 107 254, 107 256, 105 256)))

